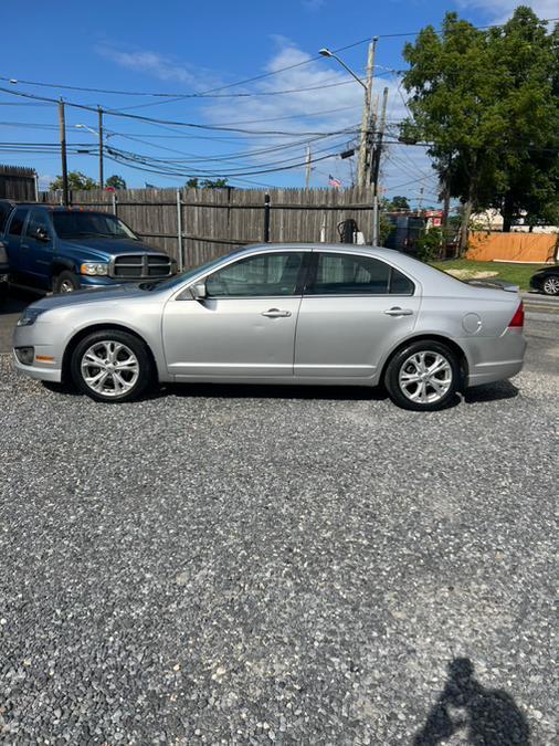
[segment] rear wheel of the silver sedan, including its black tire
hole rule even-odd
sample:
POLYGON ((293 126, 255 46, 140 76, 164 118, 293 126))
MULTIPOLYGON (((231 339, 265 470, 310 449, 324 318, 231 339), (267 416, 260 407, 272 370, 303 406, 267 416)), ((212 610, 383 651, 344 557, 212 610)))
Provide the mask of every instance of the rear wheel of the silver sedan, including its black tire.
MULTIPOLYGON (((428 376, 426 372, 425 376, 428 376)), ((384 386, 398 407, 433 412, 449 407, 456 400, 456 393, 462 388, 462 370, 456 355, 446 345, 434 339, 432 342, 420 339, 395 353, 387 367, 384 386), (444 366, 440 371, 424 379, 421 379, 423 374, 419 372, 418 368, 422 354, 425 371, 434 365, 435 360, 444 360, 444 366), (401 381, 401 375, 404 378, 408 376, 408 381, 401 381), (413 376, 418 376, 420 380, 414 381, 413 376), (423 391, 424 398, 421 396, 423 391), (413 399, 413 396, 418 399, 413 399)))

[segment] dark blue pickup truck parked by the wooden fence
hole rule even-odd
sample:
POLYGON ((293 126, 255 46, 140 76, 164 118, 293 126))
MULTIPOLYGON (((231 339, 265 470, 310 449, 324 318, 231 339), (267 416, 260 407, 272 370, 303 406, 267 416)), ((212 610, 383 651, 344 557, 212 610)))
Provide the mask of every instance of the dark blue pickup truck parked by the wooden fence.
POLYGON ((95 210, 13 206, 0 246, 10 283, 40 292, 71 293, 177 272, 173 259, 144 243, 116 216, 95 210))

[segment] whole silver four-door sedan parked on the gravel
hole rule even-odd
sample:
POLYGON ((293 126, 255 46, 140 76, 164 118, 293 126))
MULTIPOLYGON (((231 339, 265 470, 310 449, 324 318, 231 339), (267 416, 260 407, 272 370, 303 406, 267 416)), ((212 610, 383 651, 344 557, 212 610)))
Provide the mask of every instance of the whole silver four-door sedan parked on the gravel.
POLYGON ((162 282, 33 303, 15 366, 97 401, 155 382, 378 386, 434 410, 517 374, 526 342, 514 287, 466 284, 388 249, 266 244, 162 282))

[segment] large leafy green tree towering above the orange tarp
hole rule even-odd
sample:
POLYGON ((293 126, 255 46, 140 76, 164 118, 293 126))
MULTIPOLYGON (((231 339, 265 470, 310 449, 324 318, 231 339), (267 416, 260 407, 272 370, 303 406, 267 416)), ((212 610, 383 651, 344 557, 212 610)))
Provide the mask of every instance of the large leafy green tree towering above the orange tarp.
POLYGON ((411 117, 403 141, 426 141, 450 195, 463 203, 461 249, 473 209, 498 207, 509 228, 537 220, 557 188, 559 62, 557 29, 528 8, 504 27, 475 29, 447 13, 442 33, 424 29, 404 48, 411 117))

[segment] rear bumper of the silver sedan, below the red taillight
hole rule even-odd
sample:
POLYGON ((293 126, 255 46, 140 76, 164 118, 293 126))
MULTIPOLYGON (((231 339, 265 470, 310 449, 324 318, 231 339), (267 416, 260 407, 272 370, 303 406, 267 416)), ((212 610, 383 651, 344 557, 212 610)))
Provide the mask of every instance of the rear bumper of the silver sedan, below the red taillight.
POLYGON ((498 339, 479 338, 471 348, 466 387, 513 378, 520 372, 526 339, 520 328, 507 329, 498 339))

